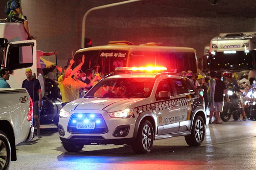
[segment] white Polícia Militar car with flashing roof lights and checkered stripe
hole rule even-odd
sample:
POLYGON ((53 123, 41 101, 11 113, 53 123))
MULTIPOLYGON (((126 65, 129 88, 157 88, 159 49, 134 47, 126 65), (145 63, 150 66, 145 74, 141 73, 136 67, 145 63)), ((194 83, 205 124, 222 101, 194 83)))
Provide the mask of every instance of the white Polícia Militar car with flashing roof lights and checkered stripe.
POLYGON ((58 124, 63 147, 77 152, 90 144, 128 144, 136 153, 149 153, 154 140, 175 136, 200 146, 204 99, 189 79, 166 71, 116 68, 83 98, 65 105, 58 124))

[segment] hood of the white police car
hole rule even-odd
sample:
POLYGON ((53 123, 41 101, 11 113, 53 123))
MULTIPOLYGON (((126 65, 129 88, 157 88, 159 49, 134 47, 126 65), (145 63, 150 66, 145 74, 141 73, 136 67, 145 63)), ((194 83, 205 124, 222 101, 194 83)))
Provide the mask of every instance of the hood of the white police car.
POLYGON ((104 110, 106 112, 120 111, 127 108, 129 105, 142 101, 144 99, 95 99, 81 98, 72 101, 64 106, 66 111, 71 110, 104 110), (69 107, 68 107, 69 106, 69 107))

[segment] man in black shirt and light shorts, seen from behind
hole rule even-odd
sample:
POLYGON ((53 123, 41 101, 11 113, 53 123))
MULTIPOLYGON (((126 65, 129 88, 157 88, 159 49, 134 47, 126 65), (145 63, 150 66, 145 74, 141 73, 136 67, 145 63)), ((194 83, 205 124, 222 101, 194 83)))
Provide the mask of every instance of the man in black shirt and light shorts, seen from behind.
POLYGON ((214 103, 215 103, 215 114, 216 114, 216 124, 221 124, 219 121, 219 114, 223 111, 224 106, 224 93, 227 99, 227 102, 229 102, 228 97, 228 90, 226 87, 226 84, 221 80, 222 73, 218 72, 216 74, 216 85, 215 85, 215 92, 214 92, 214 103))

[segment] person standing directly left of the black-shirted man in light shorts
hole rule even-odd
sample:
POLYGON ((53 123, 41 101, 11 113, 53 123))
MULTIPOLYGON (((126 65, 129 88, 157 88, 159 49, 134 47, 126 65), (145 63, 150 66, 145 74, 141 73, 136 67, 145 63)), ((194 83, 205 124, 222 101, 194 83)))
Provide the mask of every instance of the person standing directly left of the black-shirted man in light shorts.
MULTIPOLYGON (((211 71, 211 79, 209 80, 209 87, 208 87, 208 102, 210 108, 210 121, 209 124, 212 124, 212 117, 215 112, 215 104, 214 104, 214 92, 215 92, 215 78, 216 78, 216 71, 211 71)), ((205 108, 206 109, 206 108, 205 108)), ((216 121, 215 121, 216 122, 216 121)))

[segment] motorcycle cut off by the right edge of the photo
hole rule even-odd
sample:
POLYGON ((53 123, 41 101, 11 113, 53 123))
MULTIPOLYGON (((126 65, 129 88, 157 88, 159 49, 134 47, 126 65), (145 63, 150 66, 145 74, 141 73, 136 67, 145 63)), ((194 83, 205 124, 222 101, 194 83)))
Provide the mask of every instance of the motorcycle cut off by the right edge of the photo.
POLYGON ((244 98, 244 110, 246 116, 256 120, 256 88, 251 88, 244 98))

